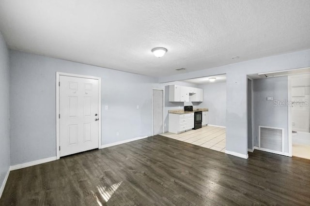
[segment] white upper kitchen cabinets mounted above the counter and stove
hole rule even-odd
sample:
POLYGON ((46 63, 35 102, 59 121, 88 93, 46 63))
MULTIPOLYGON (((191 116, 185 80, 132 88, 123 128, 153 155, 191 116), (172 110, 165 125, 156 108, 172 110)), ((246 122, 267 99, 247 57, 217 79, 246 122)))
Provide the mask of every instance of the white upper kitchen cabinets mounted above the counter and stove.
POLYGON ((169 85, 169 102, 202 102, 202 88, 169 85))

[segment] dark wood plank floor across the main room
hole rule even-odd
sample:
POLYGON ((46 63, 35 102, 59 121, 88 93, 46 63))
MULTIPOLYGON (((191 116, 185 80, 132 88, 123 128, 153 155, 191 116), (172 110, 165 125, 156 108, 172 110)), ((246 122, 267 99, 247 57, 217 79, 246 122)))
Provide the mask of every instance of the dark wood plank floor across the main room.
POLYGON ((310 160, 156 135, 11 171, 0 205, 310 205, 310 160))

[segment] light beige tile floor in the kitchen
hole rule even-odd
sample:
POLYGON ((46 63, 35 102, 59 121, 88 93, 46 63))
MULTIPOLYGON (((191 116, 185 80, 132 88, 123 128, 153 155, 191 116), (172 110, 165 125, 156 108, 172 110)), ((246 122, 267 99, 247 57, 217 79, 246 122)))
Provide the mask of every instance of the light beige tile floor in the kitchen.
POLYGON ((165 132, 159 134, 172 139, 187 142, 200 147, 225 152, 226 130, 221 127, 205 126, 198 130, 190 130, 180 134, 165 132))

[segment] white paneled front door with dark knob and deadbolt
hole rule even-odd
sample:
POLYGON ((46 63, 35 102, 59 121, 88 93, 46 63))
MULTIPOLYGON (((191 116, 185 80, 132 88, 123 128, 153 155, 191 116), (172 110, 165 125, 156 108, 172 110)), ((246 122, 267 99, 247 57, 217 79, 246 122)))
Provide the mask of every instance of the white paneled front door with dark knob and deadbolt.
POLYGON ((98 148, 98 79, 60 76, 60 157, 98 148))

